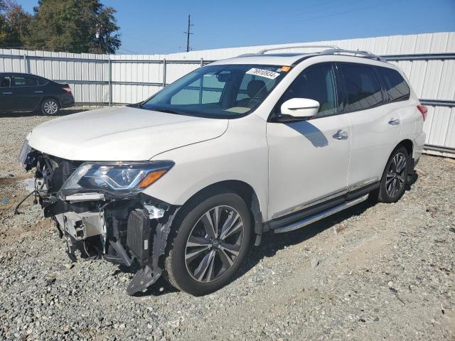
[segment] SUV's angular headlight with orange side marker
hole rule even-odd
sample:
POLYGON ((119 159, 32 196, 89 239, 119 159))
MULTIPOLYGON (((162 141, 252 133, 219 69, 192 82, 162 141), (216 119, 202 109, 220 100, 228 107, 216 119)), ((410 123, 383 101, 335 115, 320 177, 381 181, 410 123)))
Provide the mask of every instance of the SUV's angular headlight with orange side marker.
POLYGON ((63 184, 63 195, 101 191, 113 197, 139 193, 161 178, 174 163, 149 161, 129 163, 82 163, 63 184))

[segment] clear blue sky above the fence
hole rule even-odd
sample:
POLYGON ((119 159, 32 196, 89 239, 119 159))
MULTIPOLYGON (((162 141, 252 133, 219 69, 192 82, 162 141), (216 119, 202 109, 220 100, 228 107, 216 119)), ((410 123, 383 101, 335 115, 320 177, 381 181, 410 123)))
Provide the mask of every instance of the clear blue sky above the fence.
MULTIPOLYGON (((32 12, 38 0, 16 0, 32 12)), ((117 9, 117 53, 304 43, 455 31, 455 0, 101 0, 117 9)))

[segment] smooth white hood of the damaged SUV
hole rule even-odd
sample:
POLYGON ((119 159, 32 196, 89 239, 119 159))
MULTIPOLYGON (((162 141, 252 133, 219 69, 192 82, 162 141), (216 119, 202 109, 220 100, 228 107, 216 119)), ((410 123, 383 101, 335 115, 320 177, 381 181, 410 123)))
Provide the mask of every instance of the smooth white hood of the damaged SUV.
POLYGON ((170 149, 215 139, 227 119, 167 114, 133 107, 80 112, 36 126, 28 144, 76 161, 145 161, 170 149))

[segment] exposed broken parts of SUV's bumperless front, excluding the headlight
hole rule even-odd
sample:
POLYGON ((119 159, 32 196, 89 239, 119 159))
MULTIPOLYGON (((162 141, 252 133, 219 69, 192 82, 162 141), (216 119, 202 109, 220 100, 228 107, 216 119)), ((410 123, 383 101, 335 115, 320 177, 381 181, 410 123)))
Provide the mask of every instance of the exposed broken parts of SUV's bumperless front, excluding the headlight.
POLYGON ((45 217, 55 221, 60 237, 66 239, 72 261, 79 255, 124 266, 139 265, 127 288, 129 295, 156 282, 162 272, 159 257, 166 249, 178 206, 140 192, 122 196, 101 190, 65 191, 63 185, 84 162, 41 153, 27 141, 19 161, 26 171, 36 168, 32 194, 45 217))

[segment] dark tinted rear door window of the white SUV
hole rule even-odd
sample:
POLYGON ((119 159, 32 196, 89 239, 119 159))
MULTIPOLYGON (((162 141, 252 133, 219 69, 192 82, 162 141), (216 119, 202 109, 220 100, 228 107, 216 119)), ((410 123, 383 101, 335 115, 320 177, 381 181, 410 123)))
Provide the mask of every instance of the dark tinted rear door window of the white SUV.
POLYGON ((382 88, 370 65, 338 64, 346 89, 345 112, 357 112, 382 104, 382 88))

